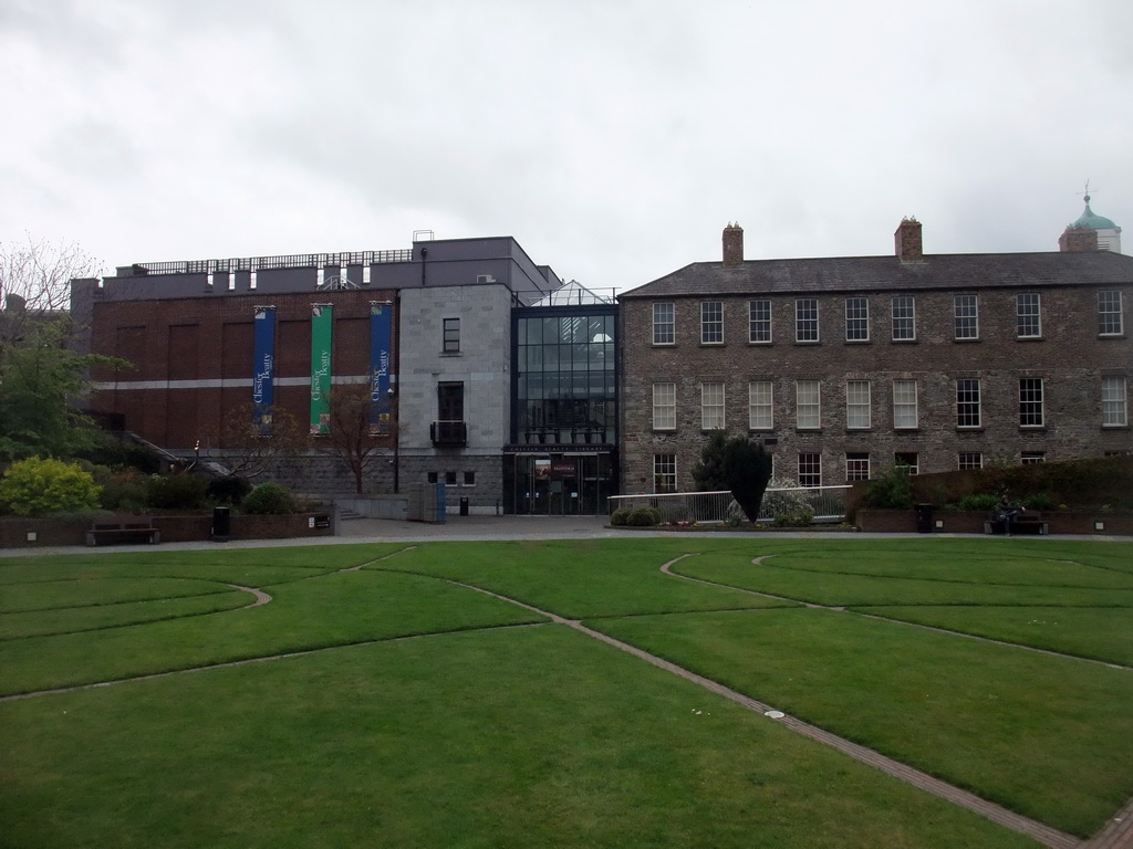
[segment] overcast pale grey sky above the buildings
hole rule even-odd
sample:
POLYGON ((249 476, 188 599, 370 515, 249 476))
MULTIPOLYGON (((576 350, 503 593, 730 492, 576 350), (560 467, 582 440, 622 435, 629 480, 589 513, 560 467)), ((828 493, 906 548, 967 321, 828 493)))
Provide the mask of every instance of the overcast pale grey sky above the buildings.
POLYGON ((514 235, 718 259, 1133 254, 1130 0, 0 0, 0 241, 104 268, 514 235))

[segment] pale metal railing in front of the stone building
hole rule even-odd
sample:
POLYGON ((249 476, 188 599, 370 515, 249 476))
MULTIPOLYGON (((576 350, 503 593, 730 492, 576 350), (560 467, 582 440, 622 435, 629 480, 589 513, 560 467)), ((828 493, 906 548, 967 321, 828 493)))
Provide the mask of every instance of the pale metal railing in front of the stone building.
MULTIPOLYGON (((810 515, 811 522, 841 522, 845 518, 846 496, 851 487, 790 487, 768 489, 759 505, 757 522, 772 524, 777 516, 810 515)), ((696 522, 713 524, 735 516, 744 521, 740 505, 727 490, 715 492, 649 492, 645 495, 611 496, 610 512, 619 507, 655 507, 662 523, 696 522)))

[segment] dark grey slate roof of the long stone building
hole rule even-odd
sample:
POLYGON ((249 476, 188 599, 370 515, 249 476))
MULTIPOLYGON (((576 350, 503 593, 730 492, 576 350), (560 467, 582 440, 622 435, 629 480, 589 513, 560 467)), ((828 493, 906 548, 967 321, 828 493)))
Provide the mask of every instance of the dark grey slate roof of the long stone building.
POLYGON ((622 292, 624 298, 870 290, 1040 288, 1133 283, 1133 257, 1108 250, 1045 254, 931 254, 919 263, 887 257, 692 263, 622 292))

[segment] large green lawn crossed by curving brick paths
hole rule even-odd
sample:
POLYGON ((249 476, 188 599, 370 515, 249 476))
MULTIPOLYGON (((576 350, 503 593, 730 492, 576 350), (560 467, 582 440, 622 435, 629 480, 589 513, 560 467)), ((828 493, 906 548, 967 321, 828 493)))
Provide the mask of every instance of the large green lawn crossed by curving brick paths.
POLYGON ((1084 838, 1133 796, 1131 564, 732 537, 0 560, 0 692, 121 681, 0 702, 0 844, 1037 846, 539 611, 1084 838))

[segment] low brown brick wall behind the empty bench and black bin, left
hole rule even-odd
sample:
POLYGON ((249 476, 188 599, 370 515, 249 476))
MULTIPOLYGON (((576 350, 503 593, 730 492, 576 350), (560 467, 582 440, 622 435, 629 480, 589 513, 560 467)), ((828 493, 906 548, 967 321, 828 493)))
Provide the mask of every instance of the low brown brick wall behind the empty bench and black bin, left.
MULTIPOLYGON (((230 540, 284 540, 330 537, 333 523, 326 513, 296 513, 288 516, 229 517, 230 540)), ((212 539, 212 515, 154 516, 162 542, 199 542, 212 539)), ((0 548, 53 548, 86 544, 86 520, 0 518, 0 548)))

